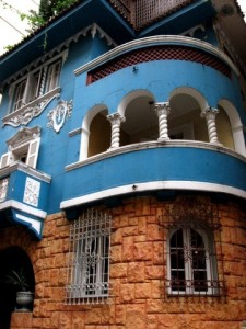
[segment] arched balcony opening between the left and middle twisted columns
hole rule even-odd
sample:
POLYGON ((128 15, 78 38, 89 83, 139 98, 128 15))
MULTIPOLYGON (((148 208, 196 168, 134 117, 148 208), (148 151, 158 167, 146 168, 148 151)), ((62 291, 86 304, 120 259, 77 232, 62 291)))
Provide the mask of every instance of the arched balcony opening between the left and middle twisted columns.
POLYGON ((156 140, 159 120, 153 110, 153 98, 148 92, 134 92, 125 107, 126 121, 121 124, 120 146, 156 140))

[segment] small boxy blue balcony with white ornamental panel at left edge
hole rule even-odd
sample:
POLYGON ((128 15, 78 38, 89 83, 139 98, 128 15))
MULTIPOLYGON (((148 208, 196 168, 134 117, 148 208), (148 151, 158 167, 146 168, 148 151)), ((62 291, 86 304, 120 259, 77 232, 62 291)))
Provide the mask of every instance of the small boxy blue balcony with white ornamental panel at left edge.
POLYGON ((0 170, 0 227, 26 227, 40 239, 48 202, 50 177, 23 162, 0 170))

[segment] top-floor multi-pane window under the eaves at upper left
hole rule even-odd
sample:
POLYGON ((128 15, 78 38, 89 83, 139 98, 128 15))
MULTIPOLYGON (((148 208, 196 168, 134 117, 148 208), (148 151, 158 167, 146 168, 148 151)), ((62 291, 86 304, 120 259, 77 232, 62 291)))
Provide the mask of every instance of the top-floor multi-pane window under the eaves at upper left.
POLYGON ((11 111, 14 112, 40 95, 58 87, 61 69, 61 58, 31 71, 24 80, 12 88, 11 111))

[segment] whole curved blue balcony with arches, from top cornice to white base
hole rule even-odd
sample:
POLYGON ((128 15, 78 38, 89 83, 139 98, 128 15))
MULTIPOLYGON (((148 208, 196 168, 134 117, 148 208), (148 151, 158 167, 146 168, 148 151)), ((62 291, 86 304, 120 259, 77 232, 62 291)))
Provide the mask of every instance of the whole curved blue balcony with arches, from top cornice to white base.
POLYGON ((164 190, 246 197, 238 71, 219 49, 188 37, 149 37, 75 75, 78 86, 87 84, 75 90, 74 106, 83 110, 73 113, 69 158, 81 148, 66 167, 61 208, 164 190))

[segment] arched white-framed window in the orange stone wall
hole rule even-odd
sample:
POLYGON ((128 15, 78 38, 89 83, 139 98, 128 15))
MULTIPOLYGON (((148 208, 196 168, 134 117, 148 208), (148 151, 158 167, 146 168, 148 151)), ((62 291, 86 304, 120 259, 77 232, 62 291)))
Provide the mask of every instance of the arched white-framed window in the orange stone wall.
POLYGON ((219 293, 216 260, 211 232, 198 225, 171 231, 168 240, 168 293, 196 295, 219 293))

